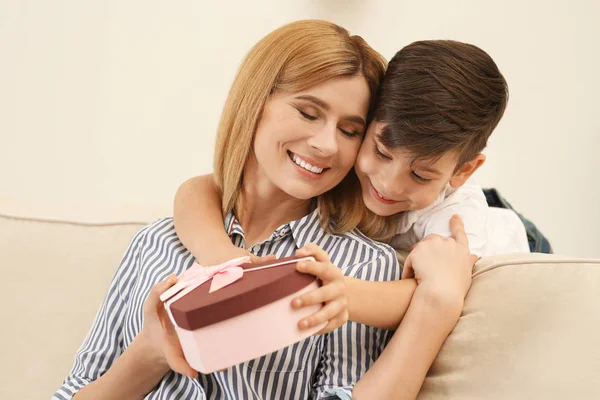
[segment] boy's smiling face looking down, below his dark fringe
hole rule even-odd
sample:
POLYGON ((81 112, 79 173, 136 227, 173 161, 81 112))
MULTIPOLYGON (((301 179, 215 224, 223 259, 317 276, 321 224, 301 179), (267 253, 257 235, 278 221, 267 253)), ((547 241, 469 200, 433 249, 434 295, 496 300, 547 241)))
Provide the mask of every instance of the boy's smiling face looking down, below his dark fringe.
POLYGON ((456 156, 447 153, 436 161, 411 164, 411 154, 381 143, 384 126, 377 121, 369 125, 354 166, 365 205, 381 216, 426 208, 454 176, 456 156))

